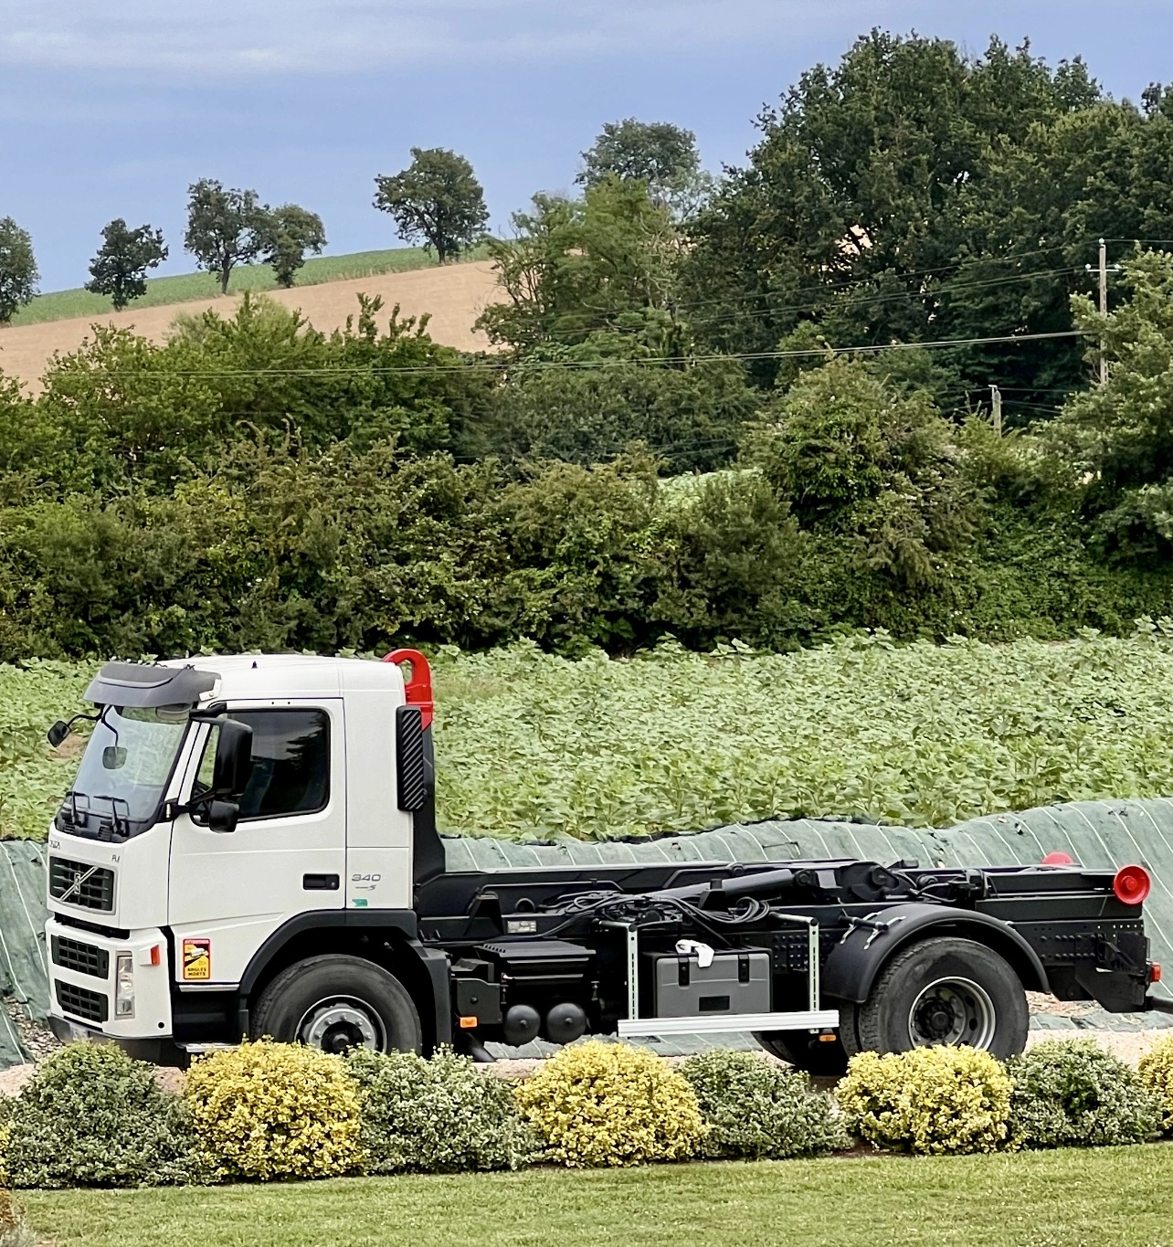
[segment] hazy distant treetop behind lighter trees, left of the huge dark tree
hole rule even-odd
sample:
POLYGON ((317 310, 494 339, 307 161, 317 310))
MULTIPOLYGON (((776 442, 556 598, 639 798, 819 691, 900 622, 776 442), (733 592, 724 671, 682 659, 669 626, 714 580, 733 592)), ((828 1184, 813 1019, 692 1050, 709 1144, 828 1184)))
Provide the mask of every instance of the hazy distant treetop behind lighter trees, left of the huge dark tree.
POLYGON ((601 186, 608 177, 646 182, 653 202, 678 216, 691 214, 712 185, 701 172, 697 136, 668 121, 608 121, 581 156, 580 186, 601 186))

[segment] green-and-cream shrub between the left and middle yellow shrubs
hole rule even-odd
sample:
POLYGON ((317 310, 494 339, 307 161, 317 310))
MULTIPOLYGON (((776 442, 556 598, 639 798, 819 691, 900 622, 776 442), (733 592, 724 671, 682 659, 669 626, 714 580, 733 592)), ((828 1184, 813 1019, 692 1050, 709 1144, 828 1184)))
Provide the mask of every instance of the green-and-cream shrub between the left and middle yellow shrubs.
POLYGON ((536 1140, 512 1089, 466 1056, 355 1049, 347 1064, 363 1100, 368 1173, 517 1168, 536 1140))

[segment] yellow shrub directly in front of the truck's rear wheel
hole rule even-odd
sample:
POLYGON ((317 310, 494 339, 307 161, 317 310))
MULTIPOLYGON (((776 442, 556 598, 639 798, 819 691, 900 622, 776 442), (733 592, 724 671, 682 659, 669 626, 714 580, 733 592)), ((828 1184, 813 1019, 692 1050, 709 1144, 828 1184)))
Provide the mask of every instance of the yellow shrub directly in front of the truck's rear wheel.
POLYGON ((940 1046, 860 1052, 835 1095, 851 1129, 876 1147, 939 1155, 1005 1146, 1012 1092, 989 1052, 940 1046))

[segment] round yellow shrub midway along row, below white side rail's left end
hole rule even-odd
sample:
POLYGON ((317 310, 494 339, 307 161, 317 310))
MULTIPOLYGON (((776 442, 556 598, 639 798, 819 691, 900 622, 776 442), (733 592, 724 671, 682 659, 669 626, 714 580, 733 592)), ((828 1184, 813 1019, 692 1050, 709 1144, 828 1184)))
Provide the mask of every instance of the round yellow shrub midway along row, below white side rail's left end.
POLYGON ((706 1134, 688 1080, 628 1044, 563 1047, 517 1087, 517 1102, 546 1157, 572 1167, 682 1160, 706 1134))

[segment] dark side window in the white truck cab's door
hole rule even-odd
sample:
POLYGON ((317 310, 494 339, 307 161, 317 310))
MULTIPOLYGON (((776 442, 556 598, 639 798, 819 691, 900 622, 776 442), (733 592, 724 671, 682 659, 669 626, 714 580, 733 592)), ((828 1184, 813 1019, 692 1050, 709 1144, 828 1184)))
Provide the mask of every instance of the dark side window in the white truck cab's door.
MULTIPOLYGON (((253 769, 241 818, 312 814, 330 799, 330 717, 322 710, 238 710, 229 718, 253 729, 253 769)), ((217 731, 208 734, 194 791, 212 783, 217 731)))

